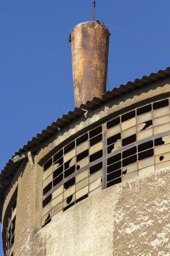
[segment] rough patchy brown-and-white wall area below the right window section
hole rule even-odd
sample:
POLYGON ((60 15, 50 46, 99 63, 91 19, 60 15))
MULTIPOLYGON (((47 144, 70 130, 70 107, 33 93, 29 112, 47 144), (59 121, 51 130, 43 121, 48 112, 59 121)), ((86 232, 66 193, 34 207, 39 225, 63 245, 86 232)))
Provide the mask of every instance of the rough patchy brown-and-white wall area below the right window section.
POLYGON ((170 178, 147 180, 147 186, 144 179, 140 183, 140 189, 137 180, 128 184, 116 205, 124 218, 115 221, 113 255, 169 256, 170 178))

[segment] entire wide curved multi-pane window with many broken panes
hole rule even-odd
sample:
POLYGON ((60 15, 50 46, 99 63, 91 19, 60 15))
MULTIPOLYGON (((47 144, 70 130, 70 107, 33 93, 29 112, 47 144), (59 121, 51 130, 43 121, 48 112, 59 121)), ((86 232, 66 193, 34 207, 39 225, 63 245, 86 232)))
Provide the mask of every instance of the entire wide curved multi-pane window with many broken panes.
POLYGON ((42 227, 94 191, 170 166, 169 113, 169 99, 147 103, 55 152, 43 165, 42 227))

